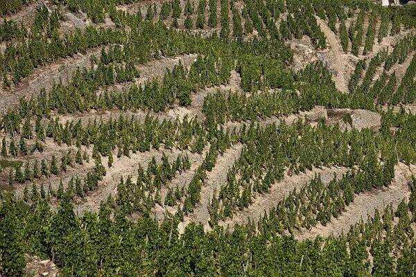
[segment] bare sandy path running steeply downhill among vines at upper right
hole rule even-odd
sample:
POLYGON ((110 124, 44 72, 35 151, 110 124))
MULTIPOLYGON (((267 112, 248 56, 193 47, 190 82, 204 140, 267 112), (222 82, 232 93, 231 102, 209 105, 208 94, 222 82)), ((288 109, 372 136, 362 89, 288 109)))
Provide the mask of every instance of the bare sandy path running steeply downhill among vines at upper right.
POLYGON ((327 61, 329 69, 333 70, 333 81, 336 88, 340 91, 348 91, 348 79, 354 71, 355 62, 358 60, 352 54, 346 54, 341 47, 340 39, 333 33, 328 25, 319 17, 316 17, 316 21, 320 26, 325 37, 327 37, 327 46, 329 50, 320 51, 322 60, 327 61))

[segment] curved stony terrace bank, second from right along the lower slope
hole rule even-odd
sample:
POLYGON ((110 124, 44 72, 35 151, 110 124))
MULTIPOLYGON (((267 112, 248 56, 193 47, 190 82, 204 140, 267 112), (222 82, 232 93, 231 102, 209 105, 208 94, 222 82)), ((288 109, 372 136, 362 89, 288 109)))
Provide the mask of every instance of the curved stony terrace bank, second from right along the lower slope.
POLYGON ((221 226, 233 227, 235 224, 245 224, 251 219, 254 222, 257 222, 261 219, 264 213, 268 213, 270 208, 276 206, 277 202, 281 201, 288 195, 293 192, 293 190, 299 190, 315 178, 316 175, 320 175, 324 184, 328 184, 329 181, 333 179, 335 174, 337 178, 342 177, 342 175, 348 171, 348 168, 313 168, 312 170, 307 170, 306 172, 301 172, 299 175, 288 176, 287 172, 284 175, 284 178, 281 181, 278 181, 275 184, 272 184, 268 193, 263 195, 257 195, 253 203, 243 211, 237 211, 232 218, 229 218, 219 224, 221 226))

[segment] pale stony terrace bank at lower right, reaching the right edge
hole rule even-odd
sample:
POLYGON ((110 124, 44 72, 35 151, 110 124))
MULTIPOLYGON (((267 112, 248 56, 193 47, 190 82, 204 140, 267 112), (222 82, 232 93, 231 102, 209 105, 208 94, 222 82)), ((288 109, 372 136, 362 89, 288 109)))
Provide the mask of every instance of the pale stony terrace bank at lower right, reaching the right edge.
POLYGON ((393 208, 396 208, 402 199, 408 199, 410 195, 407 182, 411 175, 416 173, 416 166, 406 166, 404 163, 399 163, 395 166, 395 179, 388 188, 380 190, 372 190, 365 193, 360 193, 354 198, 354 202, 347 206, 345 211, 338 217, 338 219, 332 219, 327 226, 318 224, 311 230, 305 230, 296 237, 299 240, 306 240, 308 238, 314 238, 317 235, 324 237, 333 235, 340 235, 349 231, 350 226, 361 222, 367 221, 367 215, 374 215, 376 209, 383 211, 385 206, 392 204, 393 208))

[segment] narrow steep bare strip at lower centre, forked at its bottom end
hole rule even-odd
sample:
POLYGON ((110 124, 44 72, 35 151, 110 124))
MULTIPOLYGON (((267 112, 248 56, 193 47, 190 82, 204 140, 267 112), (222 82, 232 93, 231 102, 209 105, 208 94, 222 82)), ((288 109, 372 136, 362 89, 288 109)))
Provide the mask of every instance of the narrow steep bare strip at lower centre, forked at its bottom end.
POLYGON ((243 145, 241 143, 233 145, 223 155, 218 156, 216 164, 211 172, 207 173, 207 181, 202 186, 200 192, 200 203, 193 209, 193 213, 186 216, 183 222, 180 222, 178 229, 180 233, 184 232, 185 227, 190 222, 198 222, 204 225, 205 230, 209 230, 208 206, 214 195, 214 190, 219 191, 220 185, 227 181, 227 172, 234 162, 239 159, 243 145))

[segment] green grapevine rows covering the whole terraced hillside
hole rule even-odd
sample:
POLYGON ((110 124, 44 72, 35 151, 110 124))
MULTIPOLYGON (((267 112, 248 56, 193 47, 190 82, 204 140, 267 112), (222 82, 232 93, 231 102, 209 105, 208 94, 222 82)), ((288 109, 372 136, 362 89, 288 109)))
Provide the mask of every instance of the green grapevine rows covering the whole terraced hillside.
MULTIPOLYGON (((23 253, 53 258, 63 276, 413 274, 413 186, 408 203, 401 202, 396 211, 390 206, 382 215, 376 211, 367 223, 352 226, 340 237, 297 241, 287 234, 329 224, 354 204, 356 195, 389 186, 398 161, 415 163, 415 116, 390 109, 379 111, 379 132, 341 131, 324 120, 313 126, 302 120, 292 125, 263 124, 272 116, 309 111, 317 105, 374 110, 379 105, 415 102, 416 58, 410 61, 403 78, 389 72, 394 64, 404 64, 415 48, 412 35, 399 41, 388 55, 380 52, 369 62, 358 62, 349 80, 349 93, 336 89, 333 73, 322 62, 305 64, 297 72, 289 69, 293 51, 284 42, 306 35, 315 48, 326 48, 326 38, 316 20, 320 17, 339 33, 345 53, 352 44, 352 53, 358 55, 365 35, 366 54, 372 51, 379 12, 388 14, 388 20, 381 19, 380 40, 388 35, 390 19, 393 35, 410 26, 409 17, 401 17, 404 10, 376 8, 370 1, 330 0, 200 0, 196 10, 192 1, 181 6, 180 1, 173 0, 157 8, 147 4, 144 18, 141 12, 129 14, 116 9, 116 5, 132 2, 53 1, 67 5, 71 12, 85 12, 93 22, 103 22, 108 15, 114 28, 92 25, 64 34, 58 32, 64 19, 60 10, 49 11, 43 6, 36 10, 31 30, 14 21, 0 25, 0 39, 6 41, 0 55, 0 74, 6 89, 15 87, 37 66, 101 48, 99 57, 92 57, 91 65, 78 69, 68 82, 57 82, 38 96, 22 98, 17 109, 10 109, 1 118, 1 155, 8 157, 4 158, 5 165, 15 168, 9 170, 10 185, 14 181, 39 183, 49 174, 59 176, 68 167, 85 166, 91 149, 94 163, 89 163, 91 168, 85 176, 61 180, 58 188, 33 183, 29 193, 24 186, 23 201, 0 193, 0 229, 1 233, 8 232, 0 240, 0 275, 21 275, 23 253), (156 21, 159 8, 162 20, 156 21), (285 13, 284 20, 281 13, 285 13), (358 18, 347 30, 347 17, 357 13, 358 18), (366 17, 370 22, 364 33, 366 17), (214 35, 202 37, 175 30, 182 19, 189 30, 194 25, 216 28, 214 35), (167 28, 162 21, 172 21, 174 28, 167 28), (163 78, 137 84, 139 64, 189 53, 198 55, 190 66, 179 63, 167 69, 163 78), (381 66, 385 72, 373 80, 381 66), (233 70, 241 78, 243 91, 215 89, 208 93, 202 116, 162 120, 159 114, 125 115, 125 111, 159 113, 177 105, 189 107, 193 100, 198 104, 198 90, 227 85, 233 70), (118 84, 126 89, 116 89, 118 84), (122 115, 87 120, 55 116, 92 109, 122 115), (237 124, 229 120, 240 121, 241 127, 227 129, 237 124), (249 122, 243 122, 246 120, 249 122), (40 166, 36 159, 29 159, 31 152, 42 152, 51 141, 72 152, 62 152, 59 159, 43 159, 40 166), (217 184, 220 190, 206 199, 209 218, 205 220, 211 230, 191 223, 179 235, 179 222, 184 221, 184 215, 193 218, 193 209, 205 197, 201 191, 209 174, 216 172, 218 157, 235 143, 243 145, 241 156, 229 165, 224 184, 217 184), (174 157, 178 149, 183 152, 174 157), (116 195, 104 201, 98 213, 75 215, 71 201, 82 201, 80 198, 101 185, 106 174, 104 161, 110 168, 114 166, 113 154, 125 159, 135 157, 132 153, 146 156, 150 151, 163 154, 150 159, 146 169, 139 167, 134 177, 122 178, 116 195), (189 152, 204 155, 196 170, 191 169, 194 157, 189 159, 189 152), (17 159, 26 162, 18 163, 17 159), (285 174, 324 166, 350 170, 329 184, 315 177, 275 203, 259 222, 236 225, 232 230, 221 227, 223 220, 250 207, 285 174), (178 183, 185 170, 193 175, 186 184, 178 183), (51 209, 48 202, 59 202, 58 208, 51 209), (153 220, 159 208, 166 208, 166 214, 153 220), (368 262, 370 254, 372 264, 368 262)), ((341 120, 352 124, 349 115, 341 120)))

